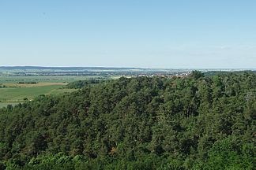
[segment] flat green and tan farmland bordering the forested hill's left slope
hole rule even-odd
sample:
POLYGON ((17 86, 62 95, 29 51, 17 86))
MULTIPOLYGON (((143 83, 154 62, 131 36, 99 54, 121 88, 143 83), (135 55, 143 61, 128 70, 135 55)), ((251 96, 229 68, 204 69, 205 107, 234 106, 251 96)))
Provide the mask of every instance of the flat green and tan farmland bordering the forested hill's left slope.
POLYGON ((0 108, 32 100, 40 94, 64 94, 68 83, 83 79, 117 79, 120 76, 0 76, 0 108), (2 88, 1 88, 2 87, 2 88))

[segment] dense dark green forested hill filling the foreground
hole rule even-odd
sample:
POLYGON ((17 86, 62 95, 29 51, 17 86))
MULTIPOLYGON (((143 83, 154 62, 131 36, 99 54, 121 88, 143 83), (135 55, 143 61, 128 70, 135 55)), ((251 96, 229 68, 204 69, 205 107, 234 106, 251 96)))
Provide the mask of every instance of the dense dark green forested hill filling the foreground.
POLYGON ((255 169, 256 76, 120 78, 0 110, 0 169, 255 169))

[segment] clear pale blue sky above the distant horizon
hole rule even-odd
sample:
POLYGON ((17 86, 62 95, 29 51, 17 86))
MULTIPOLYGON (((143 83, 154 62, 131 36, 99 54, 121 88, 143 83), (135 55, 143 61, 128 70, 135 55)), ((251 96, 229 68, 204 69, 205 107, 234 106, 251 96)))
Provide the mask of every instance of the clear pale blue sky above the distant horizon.
POLYGON ((0 0, 0 65, 255 68, 254 0, 0 0))

